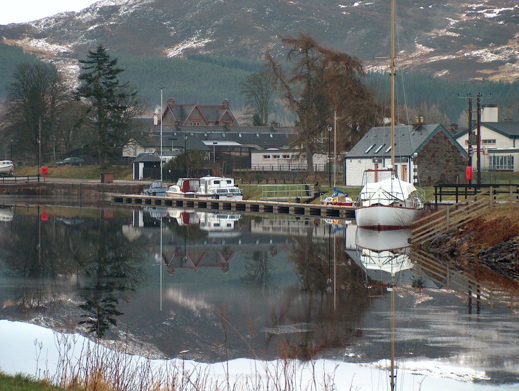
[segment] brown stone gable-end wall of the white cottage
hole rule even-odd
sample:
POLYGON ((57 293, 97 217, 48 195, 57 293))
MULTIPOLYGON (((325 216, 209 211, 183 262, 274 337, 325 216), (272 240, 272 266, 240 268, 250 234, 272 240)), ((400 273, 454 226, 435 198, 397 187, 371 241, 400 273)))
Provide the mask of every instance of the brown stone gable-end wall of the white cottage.
POLYGON ((442 132, 418 153, 417 165, 420 186, 465 183, 467 158, 442 132))

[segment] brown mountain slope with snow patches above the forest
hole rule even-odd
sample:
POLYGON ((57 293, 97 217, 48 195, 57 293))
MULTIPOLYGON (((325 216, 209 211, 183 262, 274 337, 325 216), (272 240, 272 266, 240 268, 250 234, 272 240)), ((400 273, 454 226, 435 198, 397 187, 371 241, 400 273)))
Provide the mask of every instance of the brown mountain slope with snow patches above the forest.
MULTIPOLYGON (((519 2, 397 0, 399 63, 456 79, 519 76, 519 2)), ((103 0, 80 12, 0 26, 4 42, 42 57, 84 58, 98 44, 119 53, 192 53, 262 59, 281 37, 320 43, 384 67, 389 0, 103 0)), ((74 62, 73 62, 74 63, 74 62)))

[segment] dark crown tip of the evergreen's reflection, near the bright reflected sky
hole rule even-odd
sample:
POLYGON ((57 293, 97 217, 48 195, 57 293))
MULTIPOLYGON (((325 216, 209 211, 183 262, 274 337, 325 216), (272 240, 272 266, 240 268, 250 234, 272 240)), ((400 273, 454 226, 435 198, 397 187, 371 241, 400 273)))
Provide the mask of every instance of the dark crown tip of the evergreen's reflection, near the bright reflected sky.
POLYGON ((89 333, 95 333, 98 338, 103 338, 110 326, 117 326, 115 316, 122 315, 122 312, 117 311, 115 307, 118 302, 111 292, 103 295, 99 291, 93 291, 93 295, 87 297, 85 303, 78 305, 81 310, 87 312, 81 315, 87 319, 81 320, 78 324, 87 325, 89 333))

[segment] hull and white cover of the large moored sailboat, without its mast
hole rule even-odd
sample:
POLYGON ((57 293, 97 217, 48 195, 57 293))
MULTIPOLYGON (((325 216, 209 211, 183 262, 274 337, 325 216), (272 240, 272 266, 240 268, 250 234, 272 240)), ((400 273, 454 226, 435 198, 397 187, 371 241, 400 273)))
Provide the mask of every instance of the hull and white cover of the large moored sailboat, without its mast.
POLYGON ((362 228, 390 230, 411 226, 424 212, 424 192, 391 176, 366 183, 357 200, 355 219, 362 228))

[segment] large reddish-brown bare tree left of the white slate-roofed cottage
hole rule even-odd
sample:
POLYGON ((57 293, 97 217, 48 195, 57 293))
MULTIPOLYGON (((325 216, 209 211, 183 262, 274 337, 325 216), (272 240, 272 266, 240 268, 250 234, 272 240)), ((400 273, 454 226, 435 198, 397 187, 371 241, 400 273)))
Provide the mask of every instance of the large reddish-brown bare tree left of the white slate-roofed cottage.
POLYGON ((313 175, 313 155, 324 148, 317 141, 334 111, 342 140, 339 147, 344 148, 373 124, 373 95, 363 83, 365 74, 358 58, 321 46, 306 34, 283 38, 282 43, 290 48, 286 54, 289 71, 267 52, 269 70, 275 88, 297 115, 301 129, 297 142, 305 150, 308 173, 313 175))

